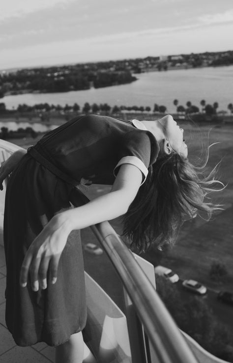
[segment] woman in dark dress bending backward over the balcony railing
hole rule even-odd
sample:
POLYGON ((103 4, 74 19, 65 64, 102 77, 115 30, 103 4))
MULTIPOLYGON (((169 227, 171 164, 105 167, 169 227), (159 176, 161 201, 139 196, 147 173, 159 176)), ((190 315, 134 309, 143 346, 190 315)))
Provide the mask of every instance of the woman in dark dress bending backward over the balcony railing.
POLYGON ((204 201, 215 170, 204 177, 187 155, 170 115, 141 122, 82 115, 3 164, 0 183, 13 170, 4 214, 6 323, 18 345, 45 341, 57 347, 57 363, 82 362, 83 257, 70 232, 124 215, 124 234, 139 251, 173 242, 184 215, 218 209, 204 201), (113 187, 82 205, 79 189, 91 182, 113 187), (74 199, 80 206, 71 208, 74 199))

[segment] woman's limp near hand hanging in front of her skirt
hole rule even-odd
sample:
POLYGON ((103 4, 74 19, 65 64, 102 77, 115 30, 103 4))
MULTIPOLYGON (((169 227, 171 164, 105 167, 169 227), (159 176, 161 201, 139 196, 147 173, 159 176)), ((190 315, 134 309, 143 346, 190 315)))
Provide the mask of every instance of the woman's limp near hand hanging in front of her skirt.
POLYGON ((54 216, 32 242, 21 267, 20 284, 27 286, 30 279, 33 291, 47 287, 47 278, 55 283, 58 275, 58 262, 61 252, 71 232, 69 221, 64 213, 54 216))

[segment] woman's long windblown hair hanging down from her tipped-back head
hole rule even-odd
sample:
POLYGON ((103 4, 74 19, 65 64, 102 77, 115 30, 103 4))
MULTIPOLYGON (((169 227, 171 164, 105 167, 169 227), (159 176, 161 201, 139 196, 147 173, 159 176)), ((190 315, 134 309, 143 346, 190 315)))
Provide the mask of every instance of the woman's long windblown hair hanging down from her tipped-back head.
POLYGON ((137 251, 146 251, 151 244, 159 249, 174 244, 178 231, 187 217, 205 212, 207 220, 222 209, 219 204, 206 201, 206 196, 222 190, 215 179, 217 166, 207 175, 202 167, 195 167, 177 153, 159 155, 148 169, 146 182, 123 217, 124 236, 137 251), (217 189, 217 185, 221 189, 217 189))

